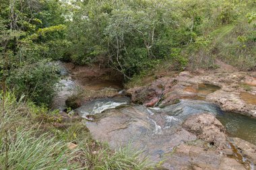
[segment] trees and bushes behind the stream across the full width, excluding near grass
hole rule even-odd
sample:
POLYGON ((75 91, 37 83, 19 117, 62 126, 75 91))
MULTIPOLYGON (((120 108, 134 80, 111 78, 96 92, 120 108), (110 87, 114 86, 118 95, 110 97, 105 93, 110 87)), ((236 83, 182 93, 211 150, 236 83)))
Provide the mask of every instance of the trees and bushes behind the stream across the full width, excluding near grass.
POLYGON ((2 80, 37 104, 53 97, 51 60, 112 67, 126 81, 166 63, 214 69, 218 59, 255 70, 253 0, 4 0, 0 8, 2 80))

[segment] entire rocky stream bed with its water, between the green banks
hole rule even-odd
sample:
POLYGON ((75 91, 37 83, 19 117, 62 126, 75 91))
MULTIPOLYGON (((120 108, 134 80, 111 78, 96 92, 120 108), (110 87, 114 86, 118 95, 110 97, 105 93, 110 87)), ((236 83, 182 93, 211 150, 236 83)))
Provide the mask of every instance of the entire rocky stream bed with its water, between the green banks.
POLYGON ((53 108, 110 148, 143 149, 156 169, 256 169, 256 73, 161 73, 123 90, 111 69, 60 66, 53 108))

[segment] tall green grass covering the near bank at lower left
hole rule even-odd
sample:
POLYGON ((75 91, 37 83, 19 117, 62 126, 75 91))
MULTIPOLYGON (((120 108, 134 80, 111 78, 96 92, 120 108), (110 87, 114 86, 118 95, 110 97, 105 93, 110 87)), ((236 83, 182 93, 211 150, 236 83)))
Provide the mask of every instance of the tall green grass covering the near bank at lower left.
MULTIPOLYGON (((2 102, 3 93, 0 93, 0 104, 2 102)), ((46 110, 22 98, 17 100, 13 93, 5 93, 5 114, 0 119, 1 170, 150 169, 141 151, 129 146, 112 151, 93 140, 82 122, 59 129, 38 122, 34 114, 41 112, 46 110), (75 148, 69 148, 70 142, 75 148)))

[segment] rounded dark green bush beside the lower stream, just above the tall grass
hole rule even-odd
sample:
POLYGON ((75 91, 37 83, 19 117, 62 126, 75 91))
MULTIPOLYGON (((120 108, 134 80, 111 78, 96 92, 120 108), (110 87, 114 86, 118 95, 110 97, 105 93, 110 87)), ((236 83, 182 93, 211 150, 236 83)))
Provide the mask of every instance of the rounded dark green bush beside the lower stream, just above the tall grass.
POLYGON ((58 68, 47 60, 13 69, 7 77, 7 85, 18 96, 26 95, 37 104, 50 104, 59 80, 58 68))

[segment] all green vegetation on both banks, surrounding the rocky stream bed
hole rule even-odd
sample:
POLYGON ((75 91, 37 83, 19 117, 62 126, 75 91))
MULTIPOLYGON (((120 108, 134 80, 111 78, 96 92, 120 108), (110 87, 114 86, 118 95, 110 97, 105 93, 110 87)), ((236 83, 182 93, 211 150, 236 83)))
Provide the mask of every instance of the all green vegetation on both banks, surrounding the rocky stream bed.
POLYGON ((159 68, 216 69, 216 60, 255 71, 255 9, 254 0, 1 0, 0 169, 146 168, 79 122, 57 126, 54 61, 111 67, 126 82, 159 68))

